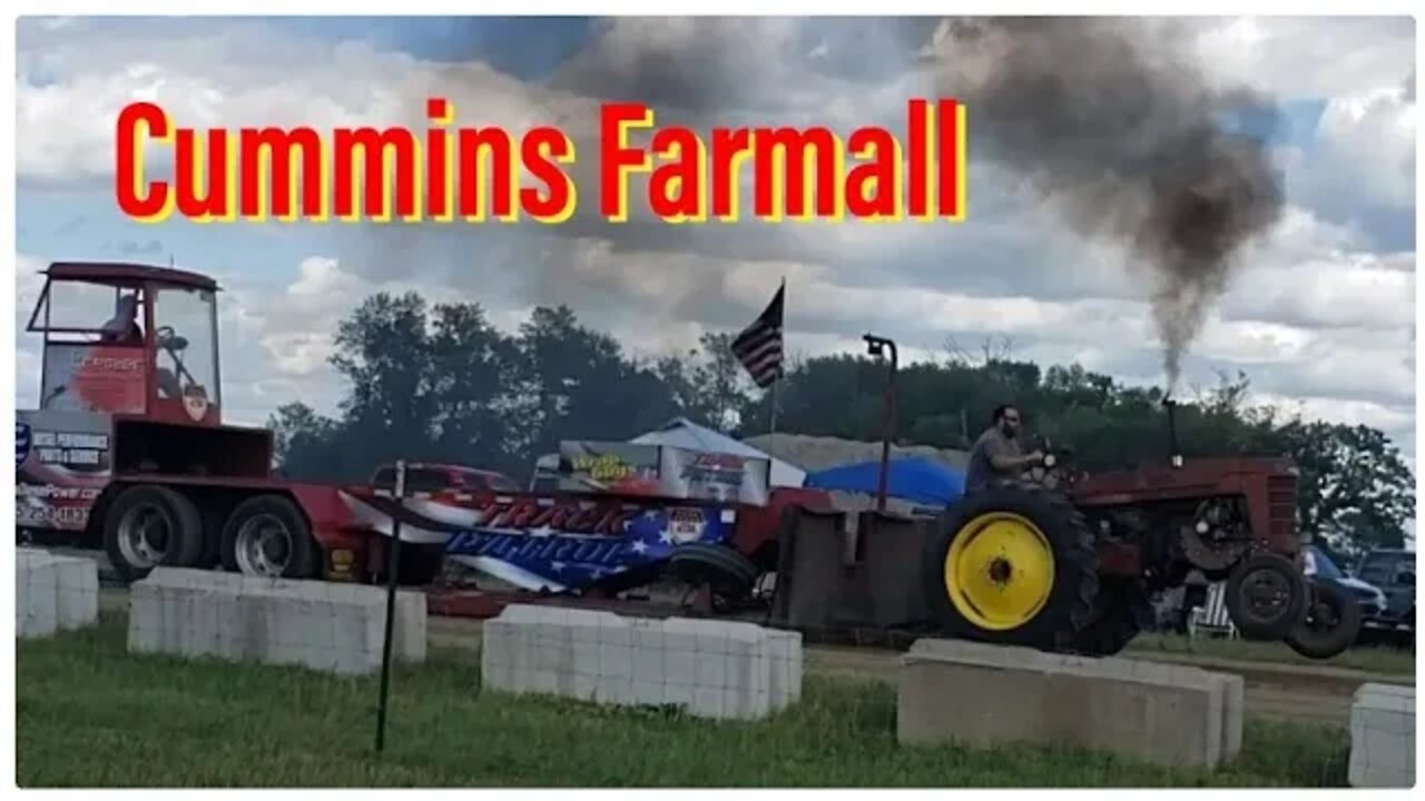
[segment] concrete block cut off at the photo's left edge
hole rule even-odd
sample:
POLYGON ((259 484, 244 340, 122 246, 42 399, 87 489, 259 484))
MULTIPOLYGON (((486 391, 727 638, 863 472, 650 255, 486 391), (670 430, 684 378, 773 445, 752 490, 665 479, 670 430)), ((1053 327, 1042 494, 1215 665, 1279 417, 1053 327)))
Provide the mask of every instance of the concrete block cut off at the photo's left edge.
POLYGON ((30 547, 14 556, 16 636, 48 637, 98 623, 98 564, 30 547))

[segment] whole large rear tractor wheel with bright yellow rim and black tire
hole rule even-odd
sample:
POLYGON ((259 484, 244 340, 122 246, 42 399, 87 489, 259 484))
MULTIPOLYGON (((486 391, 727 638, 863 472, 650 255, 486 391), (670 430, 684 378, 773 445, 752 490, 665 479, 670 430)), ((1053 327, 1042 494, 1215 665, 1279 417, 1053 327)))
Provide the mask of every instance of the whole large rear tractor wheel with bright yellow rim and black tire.
POLYGON ((1067 650, 1093 614, 1093 534, 1067 499, 996 483, 966 495, 926 542, 926 603, 952 637, 1067 650))

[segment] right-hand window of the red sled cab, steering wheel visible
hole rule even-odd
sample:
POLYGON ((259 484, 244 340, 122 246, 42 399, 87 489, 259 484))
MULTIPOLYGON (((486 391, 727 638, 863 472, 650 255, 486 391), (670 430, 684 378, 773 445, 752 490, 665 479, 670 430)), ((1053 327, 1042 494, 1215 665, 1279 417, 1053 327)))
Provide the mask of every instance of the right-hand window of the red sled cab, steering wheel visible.
POLYGON ((221 405, 218 306, 214 292, 165 286, 154 296, 155 391, 158 398, 202 398, 221 405))

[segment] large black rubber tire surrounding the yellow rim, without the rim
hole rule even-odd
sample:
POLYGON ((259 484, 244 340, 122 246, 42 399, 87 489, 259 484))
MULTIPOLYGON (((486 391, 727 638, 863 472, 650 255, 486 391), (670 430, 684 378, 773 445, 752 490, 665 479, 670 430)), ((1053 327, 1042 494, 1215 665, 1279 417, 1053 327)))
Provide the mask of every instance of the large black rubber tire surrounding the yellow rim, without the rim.
MULTIPOLYGON (((926 604, 950 637, 1066 651, 1072 650, 1074 639, 1093 617, 1093 599, 1099 594, 1099 556, 1093 534, 1083 515, 1066 497, 1042 486, 1000 482, 963 496, 942 515, 939 529, 926 540, 925 547, 922 586, 926 604), (978 536, 978 529, 969 532, 966 526, 992 513, 1027 520, 1047 543, 1047 554, 1053 563, 1052 583, 1042 596, 1043 603, 1037 610, 1026 613, 1030 614, 1026 621, 1012 627, 982 626, 968 617, 952 599, 946 582, 946 560, 956 547, 956 540, 978 536)), ((1003 553, 985 563, 985 577, 1007 587, 1016 574, 1023 576, 1023 567, 1016 573, 1016 566, 1003 553)), ((979 566, 966 567, 979 572, 979 566)), ((963 597, 960 603, 973 606, 963 597)))

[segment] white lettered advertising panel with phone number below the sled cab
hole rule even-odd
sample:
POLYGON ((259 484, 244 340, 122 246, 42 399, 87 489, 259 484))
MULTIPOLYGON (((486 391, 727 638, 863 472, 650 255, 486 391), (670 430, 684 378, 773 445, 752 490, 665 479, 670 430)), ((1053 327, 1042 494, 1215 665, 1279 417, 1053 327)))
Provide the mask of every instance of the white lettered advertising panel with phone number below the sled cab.
POLYGON ((108 416, 51 410, 17 416, 16 523, 83 530, 90 507, 108 485, 108 416))

